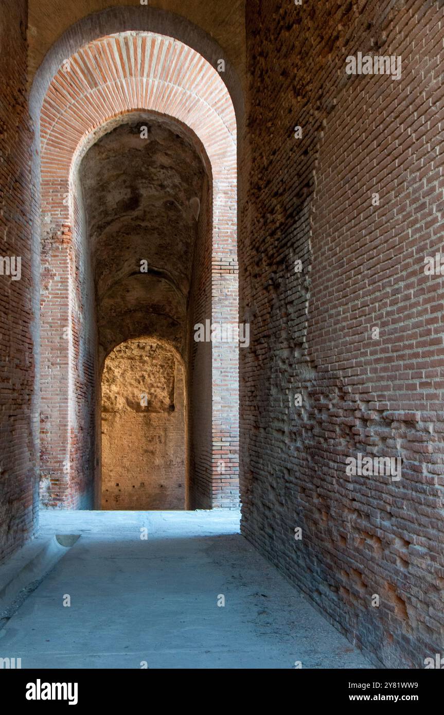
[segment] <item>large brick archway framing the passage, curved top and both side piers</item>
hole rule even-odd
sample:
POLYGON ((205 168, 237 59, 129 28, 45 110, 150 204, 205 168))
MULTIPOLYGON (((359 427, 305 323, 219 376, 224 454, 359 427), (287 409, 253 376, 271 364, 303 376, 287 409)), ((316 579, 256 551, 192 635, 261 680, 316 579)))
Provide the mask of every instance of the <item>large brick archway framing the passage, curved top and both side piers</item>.
MULTIPOLYGON (((237 506, 238 345, 193 341, 195 324, 238 322, 235 113, 222 79, 202 56, 171 37, 143 31, 106 36, 72 54, 49 83, 42 104, 43 501, 46 506, 71 508, 99 504, 99 440, 97 431, 93 438, 91 425, 94 409, 96 415, 99 409, 101 346, 91 257, 89 264, 84 259, 89 251, 87 228, 77 189, 84 152, 102 127, 118 124, 130 112, 159 112, 188 127, 202 161, 209 165, 211 200, 204 210, 199 200, 190 204, 209 240, 194 255, 187 335, 176 347, 191 366, 187 378, 190 506, 237 506), (62 332, 56 341, 54 315, 62 332)), ((119 340, 138 335, 139 329, 120 335, 119 340)), ((160 337, 171 339, 171 335, 160 337)))

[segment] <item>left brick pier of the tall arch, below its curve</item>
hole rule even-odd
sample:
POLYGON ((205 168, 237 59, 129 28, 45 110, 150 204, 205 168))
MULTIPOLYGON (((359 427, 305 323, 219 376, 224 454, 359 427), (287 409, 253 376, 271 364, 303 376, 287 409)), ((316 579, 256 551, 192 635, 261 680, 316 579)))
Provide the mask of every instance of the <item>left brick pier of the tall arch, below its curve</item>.
POLYGON ((42 187, 41 504, 93 508, 97 327, 82 190, 76 174, 62 198, 46 162, 42 187))

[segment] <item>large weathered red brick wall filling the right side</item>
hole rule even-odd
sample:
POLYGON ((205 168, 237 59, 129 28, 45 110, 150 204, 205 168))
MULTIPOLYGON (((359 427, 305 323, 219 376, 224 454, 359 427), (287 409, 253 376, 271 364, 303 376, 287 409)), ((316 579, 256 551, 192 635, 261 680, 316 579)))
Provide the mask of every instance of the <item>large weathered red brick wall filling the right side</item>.
POLYGON ((247 3, 242 531, 409 668, 444 626, 443 285, 423 272, 443 242, 443 37, 437 2, 247 3), (347 78, 357 51, 400 55, 401 79, 347 78), (402 457, 401 480, 346 475, 357 453, 402 457))

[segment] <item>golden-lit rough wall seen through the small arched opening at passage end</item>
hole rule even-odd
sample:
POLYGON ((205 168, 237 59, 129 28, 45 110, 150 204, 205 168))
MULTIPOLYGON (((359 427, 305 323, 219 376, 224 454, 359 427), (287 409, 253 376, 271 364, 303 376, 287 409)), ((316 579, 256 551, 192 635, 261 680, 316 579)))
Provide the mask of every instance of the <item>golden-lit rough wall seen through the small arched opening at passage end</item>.
POLYGON ((145 338, 110 352, 102 374, 102 509, 183 509, 184 375, 145 338))

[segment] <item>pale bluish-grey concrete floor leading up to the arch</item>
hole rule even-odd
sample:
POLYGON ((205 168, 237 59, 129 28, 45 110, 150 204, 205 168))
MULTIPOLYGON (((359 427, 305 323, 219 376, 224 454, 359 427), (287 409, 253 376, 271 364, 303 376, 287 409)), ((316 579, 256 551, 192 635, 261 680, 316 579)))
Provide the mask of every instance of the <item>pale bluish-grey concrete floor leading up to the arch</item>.
POLYGON ((81 537, 0 631, 0 656, 22 668, 373 667, 240 536, 237 512, 46 511, 40 524, 40 538, 81 537))

